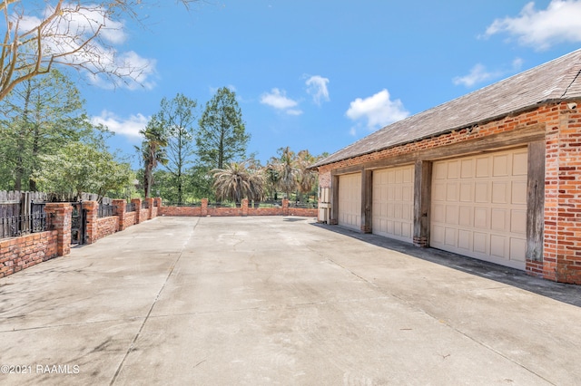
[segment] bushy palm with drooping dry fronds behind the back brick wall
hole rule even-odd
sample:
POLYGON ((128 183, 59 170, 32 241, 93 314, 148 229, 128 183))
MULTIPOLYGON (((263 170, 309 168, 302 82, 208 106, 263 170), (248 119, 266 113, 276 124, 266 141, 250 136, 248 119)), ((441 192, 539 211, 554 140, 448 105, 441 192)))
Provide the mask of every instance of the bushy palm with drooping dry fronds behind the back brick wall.
POLYGON ((240 204, 242 198, 261 200, 264 197, 264 179, 256 169, 247 169, 248 160, 231 162, 223 169, 212 169, 216 198, 230 198, 240 204))

